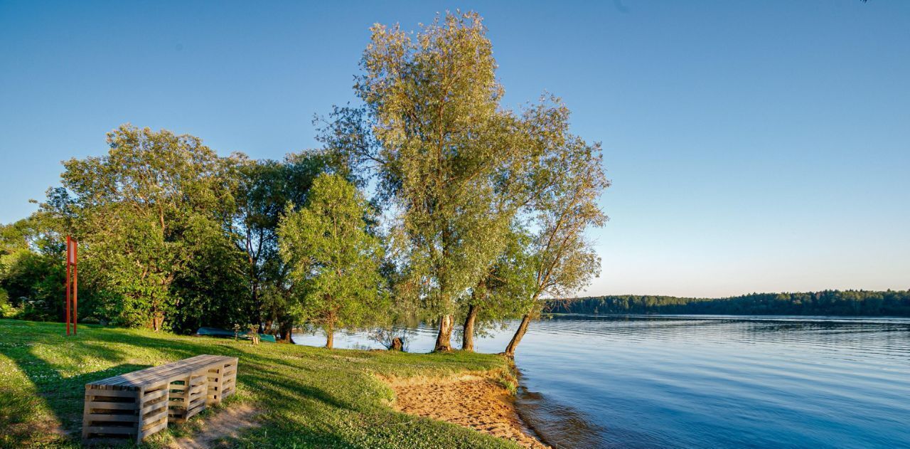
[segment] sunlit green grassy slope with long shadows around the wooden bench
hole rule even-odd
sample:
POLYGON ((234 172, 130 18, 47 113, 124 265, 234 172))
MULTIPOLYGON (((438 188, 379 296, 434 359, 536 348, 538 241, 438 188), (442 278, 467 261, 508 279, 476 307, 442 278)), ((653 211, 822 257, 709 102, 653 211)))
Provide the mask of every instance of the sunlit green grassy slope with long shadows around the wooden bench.
MULTIPOLYGON (((372 374, 441 375, 504 369, 497 356, 407 354, 234 342, 141 330, 0 320, 0 447, 77 447, 85 383, 200 353, 240 358, 238 394, 263 425, 233 447, 515 447, 490 436, 396 413, 372 374), (54 423, 76 438, 54 433, 54 423)), ((147 439, 156 447, 187 434, 210 412, 147 439)))

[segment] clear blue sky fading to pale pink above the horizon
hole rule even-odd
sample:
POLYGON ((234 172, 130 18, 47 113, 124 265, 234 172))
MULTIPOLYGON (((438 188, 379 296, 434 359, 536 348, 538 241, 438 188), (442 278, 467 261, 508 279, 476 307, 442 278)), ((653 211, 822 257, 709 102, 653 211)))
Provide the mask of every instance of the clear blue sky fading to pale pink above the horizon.
POLYGON ((0 223, 123 123, 219 154, 315 148, 374 23, 476 10, 505 107, 603 145, 580 294, 910 288, 910 2, 0 0, 0 223))

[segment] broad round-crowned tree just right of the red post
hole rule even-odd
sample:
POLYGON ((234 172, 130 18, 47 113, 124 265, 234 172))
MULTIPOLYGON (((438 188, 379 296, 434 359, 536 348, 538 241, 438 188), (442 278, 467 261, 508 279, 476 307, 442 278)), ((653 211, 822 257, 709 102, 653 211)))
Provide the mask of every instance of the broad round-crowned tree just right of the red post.
POLYGON ((64 162, 63 187, 43 209, 64 218, 80 255, 110 293, 115 321, 158 331, 180 306, 178 274, 220 238, 232 207, 225 161, 199 138, 124 125, 107 135, 105 156, 64 162))

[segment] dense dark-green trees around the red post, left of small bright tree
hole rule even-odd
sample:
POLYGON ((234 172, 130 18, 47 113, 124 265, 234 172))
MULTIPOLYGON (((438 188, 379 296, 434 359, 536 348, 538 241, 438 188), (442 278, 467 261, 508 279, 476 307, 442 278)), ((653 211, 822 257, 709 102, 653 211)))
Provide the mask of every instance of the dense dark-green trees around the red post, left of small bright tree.
POLYGON ((294 304, 278 219, 327 168, 319 152, 281 162, 220 158, 198 138, 125 125, 105 156, 66 161, 41 209, 0 227, 5 313, 63 316, 63 245, 79 240, 79 317, 193 332, 273 322, 294 304))

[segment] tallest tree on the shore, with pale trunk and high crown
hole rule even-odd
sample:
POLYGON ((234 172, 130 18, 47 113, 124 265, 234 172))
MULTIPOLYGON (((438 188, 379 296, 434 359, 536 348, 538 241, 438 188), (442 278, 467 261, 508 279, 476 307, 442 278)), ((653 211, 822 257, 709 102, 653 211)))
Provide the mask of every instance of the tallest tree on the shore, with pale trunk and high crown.
POLYGON ((520 129, 499 108, 479 15, 442 15, 416 35, 374 26, 361 68, 364 107, 337 108, 322 138, 347 172, 373 168, 403 272, 448 351, 457 301, 504 247, 513 210, 496 207, 497 184, 523 160, 520 129))

